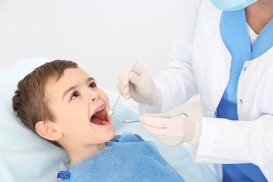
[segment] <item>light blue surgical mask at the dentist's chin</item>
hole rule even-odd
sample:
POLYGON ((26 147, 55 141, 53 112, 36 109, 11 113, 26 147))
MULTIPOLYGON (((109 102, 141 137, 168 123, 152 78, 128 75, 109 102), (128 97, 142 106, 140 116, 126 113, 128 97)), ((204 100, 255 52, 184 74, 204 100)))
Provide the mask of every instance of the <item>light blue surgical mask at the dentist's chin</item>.
POLYGON ((209 0, 220 10, 241 10, 257 0, 209 0))

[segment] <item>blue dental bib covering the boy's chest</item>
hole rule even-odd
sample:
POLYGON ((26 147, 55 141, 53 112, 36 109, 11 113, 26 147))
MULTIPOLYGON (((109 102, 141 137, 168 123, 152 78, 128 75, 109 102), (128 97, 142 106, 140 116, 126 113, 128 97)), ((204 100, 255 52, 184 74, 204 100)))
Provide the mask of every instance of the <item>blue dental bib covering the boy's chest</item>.
POLYGON ((126 132, 73 164, 64 181, 183 181, 151 141, 126 132))

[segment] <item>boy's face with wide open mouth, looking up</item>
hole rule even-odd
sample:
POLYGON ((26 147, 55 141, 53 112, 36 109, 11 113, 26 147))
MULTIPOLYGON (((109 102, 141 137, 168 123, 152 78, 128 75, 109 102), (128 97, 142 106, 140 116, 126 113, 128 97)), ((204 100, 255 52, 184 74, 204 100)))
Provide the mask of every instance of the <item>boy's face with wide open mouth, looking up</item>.
POLYGON ((90 147, 104 144, 115 135, 109 110, 109 99, 83 69, 65 69, 57 80, 51 78, 45 87, 45 100, 55 118, 55 130, 62 132, 65 145, 90 147))

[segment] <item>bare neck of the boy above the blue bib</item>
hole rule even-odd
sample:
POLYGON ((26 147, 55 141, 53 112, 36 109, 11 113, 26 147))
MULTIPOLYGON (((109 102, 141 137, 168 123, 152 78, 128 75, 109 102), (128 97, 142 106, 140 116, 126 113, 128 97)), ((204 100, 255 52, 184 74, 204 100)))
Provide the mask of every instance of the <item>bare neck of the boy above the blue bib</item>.
POLYGON ((70 167, 73 165, 75 162, 77 162, 80 159, 83 159, 87 157, 88 155, 92 155, 93 153, 96 153, 97 151, 102 150, 102 148, 105 148, 106 144, 97 144, 94 146, 89 146, 89 147, 72 147, 72 148, 65 148, 66 152, 69 154, 70 158, 70 167))

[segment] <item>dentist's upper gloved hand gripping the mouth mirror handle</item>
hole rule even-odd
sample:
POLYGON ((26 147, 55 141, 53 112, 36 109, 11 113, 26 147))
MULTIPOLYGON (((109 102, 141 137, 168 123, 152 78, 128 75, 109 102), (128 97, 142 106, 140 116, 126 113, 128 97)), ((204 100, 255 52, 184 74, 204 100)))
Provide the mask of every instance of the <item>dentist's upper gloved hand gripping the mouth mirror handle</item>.
POLYGON ((125 68, 118 78, 118 91, 123 91, 125 99, 134 99, 136 102, 158 106, 162 104, 162 95, 158 87, 155 86, 151 76, 143 66, 125 68), (123 90, 124 88, 124 90, 123 90))

